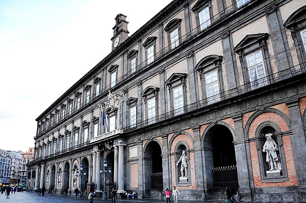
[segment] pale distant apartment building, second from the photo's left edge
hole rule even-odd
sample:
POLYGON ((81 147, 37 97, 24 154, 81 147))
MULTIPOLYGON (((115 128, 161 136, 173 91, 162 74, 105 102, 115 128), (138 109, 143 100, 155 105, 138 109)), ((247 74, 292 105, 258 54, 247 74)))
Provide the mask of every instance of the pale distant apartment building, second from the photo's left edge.
POLYGON ((11 171, 10 171, 10 184, 17 186, 20 183, 20 171, 22 166, 22 155, 21 151, 7 151, 7 156, 11 157, 11 171))

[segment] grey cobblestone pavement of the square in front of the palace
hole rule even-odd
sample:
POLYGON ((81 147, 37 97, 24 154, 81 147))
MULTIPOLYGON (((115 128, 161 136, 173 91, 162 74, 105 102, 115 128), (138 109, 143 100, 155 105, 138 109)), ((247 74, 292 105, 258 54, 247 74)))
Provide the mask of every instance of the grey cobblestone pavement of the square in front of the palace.
MULTIPOLYGON (((87 200, 87 197, 81 197, 81 199, 74 199, 73 195, 59 195, 59 194, 45 194, 45 196, 37 196, 37 193, 34 192, 16 192, 15 194, 11 194, 10 198, 6 198, 4 194, 0 194, 0 203, 89 203, 89 200, 87 200)), ((99 199, 95 198, 94 203, 110 203, 110 199, 99 199)), ((117 199, 117 203, 165 203, 166 200, 160 200, 160 199, 117 199)), ((174 203, 173 200, 171 200, 172 203, 174 203)), ((223 200, 209 200, 209 201, 188 201, 188 200, 180 200, 179 203, 223 203, 223 200)), ((285 203, 306 203, 306 201, 287 201, 285 203)), ((239 203, 248 203, 246 201, 239 201, 239 203)), ((261 202, 256 202, 261 203, 261 202)), ((266 202, 265 202, 266 203, 266 202)), ((284 201, 272 201, 272 203, 284 203, 284 201)))

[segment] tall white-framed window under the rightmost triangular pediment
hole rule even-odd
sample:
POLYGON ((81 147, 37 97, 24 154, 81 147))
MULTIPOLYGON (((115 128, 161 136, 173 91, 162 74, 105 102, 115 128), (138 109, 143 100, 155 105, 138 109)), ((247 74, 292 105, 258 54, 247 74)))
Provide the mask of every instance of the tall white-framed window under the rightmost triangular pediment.
POLYGON ((260 88, 261 86, 267 85, 267 80, 265 78, 265 66, 261 50, 246 56, 246 61, 249 71, 249 79, 251 81, 251 88, 260 88))

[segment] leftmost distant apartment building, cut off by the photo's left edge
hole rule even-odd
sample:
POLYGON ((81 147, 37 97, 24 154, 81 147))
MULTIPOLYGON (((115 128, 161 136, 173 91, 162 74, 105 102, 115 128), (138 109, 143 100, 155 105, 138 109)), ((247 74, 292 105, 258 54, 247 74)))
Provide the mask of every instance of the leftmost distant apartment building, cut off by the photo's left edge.
POLYGON ((0 186, 9 185, 10 170, 11 170, 11 157, 7 156, 7 151, 0 150, 0 186))

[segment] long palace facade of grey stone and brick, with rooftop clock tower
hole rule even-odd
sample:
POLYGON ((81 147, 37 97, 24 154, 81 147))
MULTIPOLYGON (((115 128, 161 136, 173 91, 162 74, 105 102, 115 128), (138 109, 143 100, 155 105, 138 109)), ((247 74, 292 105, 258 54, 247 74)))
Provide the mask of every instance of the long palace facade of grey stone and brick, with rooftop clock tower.
POLYGON ((36 119, 28 183, 305 200, 305 19, 301 0, 174 0, 129 36, 118 14, 110 54, 36 119))

